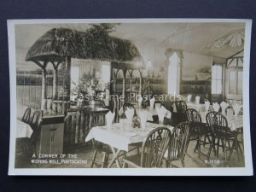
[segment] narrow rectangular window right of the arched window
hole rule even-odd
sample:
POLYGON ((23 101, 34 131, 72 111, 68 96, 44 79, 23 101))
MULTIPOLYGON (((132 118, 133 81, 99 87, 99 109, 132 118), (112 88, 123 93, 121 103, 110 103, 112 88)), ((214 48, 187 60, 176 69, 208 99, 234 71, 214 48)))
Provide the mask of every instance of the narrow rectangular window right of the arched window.
POLYGON ((212 94, 222 94, 222 66, 212 66, 212 94))

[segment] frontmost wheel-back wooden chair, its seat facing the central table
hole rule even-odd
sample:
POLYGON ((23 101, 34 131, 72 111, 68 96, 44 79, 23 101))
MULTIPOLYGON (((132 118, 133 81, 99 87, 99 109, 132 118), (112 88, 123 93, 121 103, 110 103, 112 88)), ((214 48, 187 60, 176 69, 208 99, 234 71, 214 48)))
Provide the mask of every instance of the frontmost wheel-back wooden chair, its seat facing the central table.
POLYGON ((148 137, 143 142, 142 154, 126 156, 123 159, 123 168, 126 166, 161 167, 171 135, 171 131, 166 127, 159 127, 148 133, 148 137))

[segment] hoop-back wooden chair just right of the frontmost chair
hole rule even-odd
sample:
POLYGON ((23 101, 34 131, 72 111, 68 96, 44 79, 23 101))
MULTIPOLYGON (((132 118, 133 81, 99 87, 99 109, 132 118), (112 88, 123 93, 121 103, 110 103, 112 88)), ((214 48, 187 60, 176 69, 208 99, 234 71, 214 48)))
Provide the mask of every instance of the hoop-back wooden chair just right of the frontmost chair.
POLYGON ((189 124, 180 123, 172 131, 172 139, 168 148, 168 156, 165 155, 166 167, 172 167, 172 162, 180 160, 185 166, 185 154, 189 146, 189 124))

